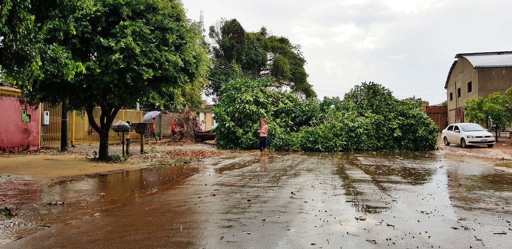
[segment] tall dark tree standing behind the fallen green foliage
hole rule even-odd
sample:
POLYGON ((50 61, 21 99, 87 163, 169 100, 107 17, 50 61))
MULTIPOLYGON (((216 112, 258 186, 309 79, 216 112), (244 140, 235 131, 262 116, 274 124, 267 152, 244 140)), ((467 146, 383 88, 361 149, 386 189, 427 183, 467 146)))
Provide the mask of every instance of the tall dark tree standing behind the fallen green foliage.
POLYGON ((277 88, 287 88, 303 99, 316 97, 307 81, 301 47, 288 38, 269 35, 265 27, 246 32, 237 19, 219 20, 210 26, 209 37, 215 44, 208 95, 217 99, 222 85, 238 77, 272 76, 277 88))

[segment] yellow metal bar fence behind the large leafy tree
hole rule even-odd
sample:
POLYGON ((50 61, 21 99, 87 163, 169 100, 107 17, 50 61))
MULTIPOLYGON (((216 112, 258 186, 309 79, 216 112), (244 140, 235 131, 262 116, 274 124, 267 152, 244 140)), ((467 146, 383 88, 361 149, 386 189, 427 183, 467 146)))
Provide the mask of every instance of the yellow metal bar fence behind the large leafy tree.
MULTIPOLYGON (((94 120, 99 122, 101 109, 95 108, 93 111, 94 120)), ((41 103, 41 113, 50 112, 50 124, 41 124, 41 142, 39 147, 58 147, 60 146, 60 126, 61 126, 61 106, 51 107, 47 103, 41 103)), ((114 122, 119 120, 130 122, 142 122, 142 112, 134 110, 120 110, 114 122)), ((87 113, 85 111, 68 112, 68 138, 70 146, 72 144, 92 144, 99 143, 99 135, 89 124, 87 113)), ((130 140, 140 140, 140 135, 132 132, 130 140)), ((109 142, 121 142, 121 135, 110 131, 109 142)))

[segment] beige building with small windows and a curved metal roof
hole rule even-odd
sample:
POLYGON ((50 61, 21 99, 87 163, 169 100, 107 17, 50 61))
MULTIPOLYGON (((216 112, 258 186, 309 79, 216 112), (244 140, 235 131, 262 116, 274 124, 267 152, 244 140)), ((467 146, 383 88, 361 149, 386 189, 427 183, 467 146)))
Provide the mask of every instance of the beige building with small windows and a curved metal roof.
POLYGON ((457 54, 455 58, 444 85, 448 124, 467 121, 462 111, 467 99, 504 94, 512 87, 512 51, 457 54))

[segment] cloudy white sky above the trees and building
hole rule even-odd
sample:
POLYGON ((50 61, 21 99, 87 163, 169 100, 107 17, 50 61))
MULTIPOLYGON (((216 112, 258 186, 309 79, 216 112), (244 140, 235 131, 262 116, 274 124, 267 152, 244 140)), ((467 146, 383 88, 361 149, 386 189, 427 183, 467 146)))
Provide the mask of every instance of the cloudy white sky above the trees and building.
POLYGON ((221 17, 246 31, 265 26, 302 46, 319 98, 374 81, 399 99, 446 100, 455 54, 512 50, 512 2, 505 0, 183 0, 207 30, 221 17))

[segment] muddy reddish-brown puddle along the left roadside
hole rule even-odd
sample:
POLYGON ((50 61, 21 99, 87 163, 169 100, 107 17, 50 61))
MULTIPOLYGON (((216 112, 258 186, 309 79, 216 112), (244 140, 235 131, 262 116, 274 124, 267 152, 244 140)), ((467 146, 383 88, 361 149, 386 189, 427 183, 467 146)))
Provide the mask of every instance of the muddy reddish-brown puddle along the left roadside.
POLYGON ((198 167, 188 165, 147 168, 49 186, 23 177, 11 176, 8 180, 2 177, 0 196, 6 199, 2 205, 17 208, 18 216, 10 220, 0 219, 0 244, 173 188, 180 180, 198 172, 198 167), (51 202, 64 204, 47 204, 51 202))

